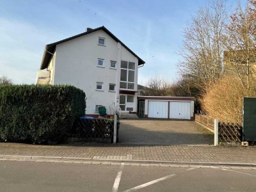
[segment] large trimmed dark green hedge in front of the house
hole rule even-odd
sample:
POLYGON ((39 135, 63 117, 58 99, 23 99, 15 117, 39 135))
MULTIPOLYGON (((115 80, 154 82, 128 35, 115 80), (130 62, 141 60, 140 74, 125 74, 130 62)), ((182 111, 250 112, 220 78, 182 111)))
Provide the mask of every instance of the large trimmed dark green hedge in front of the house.
POLYGON ((56 143, 85 108, 85 93, 74 86, 2 85, 0 140, 56 143))

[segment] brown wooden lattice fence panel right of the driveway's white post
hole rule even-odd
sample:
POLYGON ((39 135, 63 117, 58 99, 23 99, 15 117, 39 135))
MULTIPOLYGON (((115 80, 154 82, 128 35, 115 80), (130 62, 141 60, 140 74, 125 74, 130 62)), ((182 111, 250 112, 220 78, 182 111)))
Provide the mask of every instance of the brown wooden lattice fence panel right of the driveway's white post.
POLYGON ((234 143, 243 141, 243 126, 239 124, 218 124, 218 138, 223 143, 234 143))

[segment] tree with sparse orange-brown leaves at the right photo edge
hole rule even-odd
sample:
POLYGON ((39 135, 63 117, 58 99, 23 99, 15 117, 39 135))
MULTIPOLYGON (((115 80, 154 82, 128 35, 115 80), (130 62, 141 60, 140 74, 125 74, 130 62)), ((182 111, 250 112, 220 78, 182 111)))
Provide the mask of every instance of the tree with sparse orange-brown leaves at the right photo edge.
POLYGON ((250 90, 256 70, 256 2, 245 8, 239 4, 230 16, 223 42, 225 44, 225 74, 235 74, 244 88, 250 90))

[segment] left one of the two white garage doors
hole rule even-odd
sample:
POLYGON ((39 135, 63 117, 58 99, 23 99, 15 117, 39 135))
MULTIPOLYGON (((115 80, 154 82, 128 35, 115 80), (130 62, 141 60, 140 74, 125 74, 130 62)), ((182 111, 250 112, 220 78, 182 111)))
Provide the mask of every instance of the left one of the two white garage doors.
POLYGON ((168 118, 168 102, 148 101, 148 117, 168 118))

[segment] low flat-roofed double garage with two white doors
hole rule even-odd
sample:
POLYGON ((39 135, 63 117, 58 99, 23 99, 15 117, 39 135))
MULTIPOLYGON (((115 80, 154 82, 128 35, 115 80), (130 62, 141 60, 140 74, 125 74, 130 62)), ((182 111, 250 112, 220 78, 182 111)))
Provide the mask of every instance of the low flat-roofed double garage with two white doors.
POLYGON ((195 97, 138 96, 138 109, 143 111, 143 117, 148 118, 191 120, 194 116, 194 103, 195 97), (140 103, 143 103, 143 109, 140 103))

